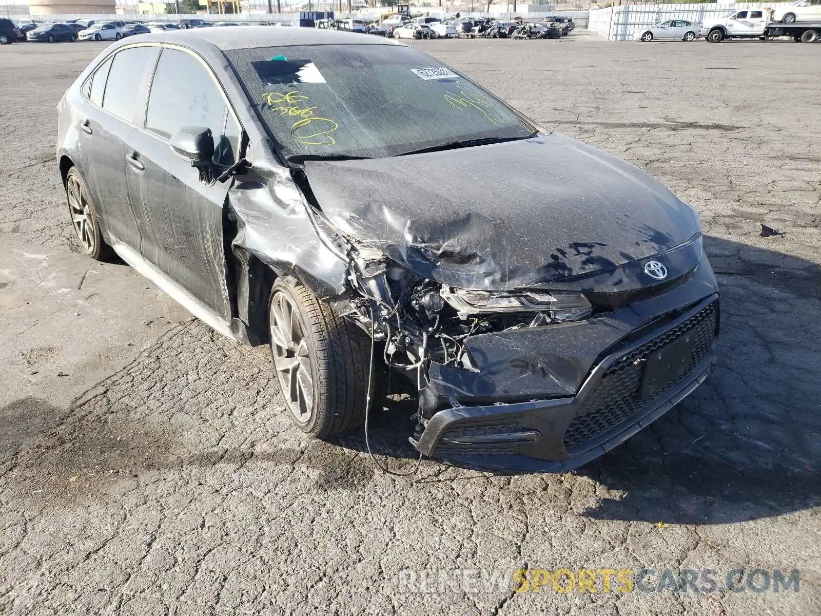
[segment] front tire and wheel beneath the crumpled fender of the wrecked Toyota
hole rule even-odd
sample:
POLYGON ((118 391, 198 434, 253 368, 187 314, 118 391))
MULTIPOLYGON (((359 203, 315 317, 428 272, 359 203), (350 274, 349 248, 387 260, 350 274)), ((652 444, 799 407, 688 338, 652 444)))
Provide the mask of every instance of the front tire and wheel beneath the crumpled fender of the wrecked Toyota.
MULTIPOLYGON (((273 283, 268 301, 268 321, 277 382, 294 425, 318 439, 361 425, 365 419, 371 343, 365 332, 335 315, 330 306, 291 277, 277 278, 273 283), (296 348, 290 350, 277 344, 277 340, 283 342, 284 339, 275 333, 277 323, 287 321, 277 317, 284 315, 283 298, 290 302, 292 319, 296 319, 301 329, 298 345, 293 341, 296 335, 291 335, 291 344, 296 348), (291 369, 294 373, 285 375, 282 368, 291 359, 287 356, 289 352, 293 353, 290 363, 296 367, 291 369), (299 391, 293 392, 295 387, 305 388, 302 378, 305 365, 310 366, 312 373, 309 375, 310 405, 306 403, 304 393, 300 401, 299 391), (303 411, 309 408, 310 411, 303 411)), ((295 331, 293 328, 291 324, 291 332, 295 331)))

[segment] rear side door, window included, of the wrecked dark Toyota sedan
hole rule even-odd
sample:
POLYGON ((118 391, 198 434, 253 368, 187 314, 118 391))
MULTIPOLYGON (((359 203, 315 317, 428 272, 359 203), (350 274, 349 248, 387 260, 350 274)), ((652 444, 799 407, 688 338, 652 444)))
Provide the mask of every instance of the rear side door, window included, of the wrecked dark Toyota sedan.
POLYGON ((108 58, 88 89, 89 108, 80 116, 80 148, 103 225, 118 241, 140 246, 126 182, 126 151, 159 48, 125 48, 108 58))

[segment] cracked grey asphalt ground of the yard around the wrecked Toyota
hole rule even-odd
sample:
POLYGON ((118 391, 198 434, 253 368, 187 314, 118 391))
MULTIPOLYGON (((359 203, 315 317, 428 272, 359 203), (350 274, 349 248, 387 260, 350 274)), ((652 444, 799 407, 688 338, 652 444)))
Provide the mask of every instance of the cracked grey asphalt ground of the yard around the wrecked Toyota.
MULTIPOLYGON (((580 471, 385 475, 361 431, 291 427, 264 348, 79 254, 54 108, 104 45, 0 48, 0 613, 819 614, 821 46, 417 44, 695 206, 717 370, 580 471), (420 593, 407 572, 477 568, 505 583, 420 593), (516 594, 516 568, 713 569, 718 589, 516 594), (727 591, 736 568, 800 569, 800 591, 727 591)), ((374 447, 410 471, 388 406, 374 447)))

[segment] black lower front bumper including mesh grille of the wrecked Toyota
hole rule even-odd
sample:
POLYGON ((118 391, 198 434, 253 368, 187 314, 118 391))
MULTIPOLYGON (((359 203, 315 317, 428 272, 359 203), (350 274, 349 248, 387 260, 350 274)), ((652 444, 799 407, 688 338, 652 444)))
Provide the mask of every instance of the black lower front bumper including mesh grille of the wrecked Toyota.
POLYGON ((421 453, 471 467, 547 472, 580 467, 702 384, 713 369, 717 332, 718 297, 713 296, 605 356, 573 397, 484 406, 454 399, 454 406, 434 414, 413 442, 421 453), (690 360, 668 380, 648 385, 644 366, 663 361, 681 342, 690 360))

